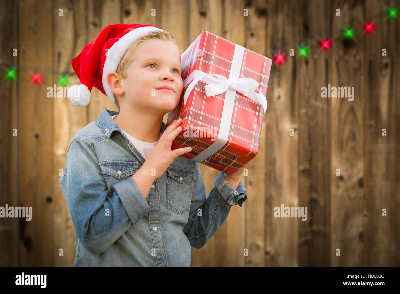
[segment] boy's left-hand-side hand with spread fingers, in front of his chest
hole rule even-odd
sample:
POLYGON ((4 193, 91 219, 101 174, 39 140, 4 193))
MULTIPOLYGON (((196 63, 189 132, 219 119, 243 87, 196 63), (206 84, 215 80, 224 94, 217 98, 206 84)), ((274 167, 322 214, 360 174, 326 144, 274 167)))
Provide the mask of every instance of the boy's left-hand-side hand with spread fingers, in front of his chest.
POLYGON ((143 165, 146 165, 149 170, 155 169, 155 179, 160 178, 164 174, 175 158, 192 150, 191 147, 171 150, 172 141, 182 132, 182 127, 180 126, 181 122, 182 119, 178 118, 178 120, 174 120, 174 122, 164 130, 161 134, 160 141, 158 141, 144 161, 143 165))

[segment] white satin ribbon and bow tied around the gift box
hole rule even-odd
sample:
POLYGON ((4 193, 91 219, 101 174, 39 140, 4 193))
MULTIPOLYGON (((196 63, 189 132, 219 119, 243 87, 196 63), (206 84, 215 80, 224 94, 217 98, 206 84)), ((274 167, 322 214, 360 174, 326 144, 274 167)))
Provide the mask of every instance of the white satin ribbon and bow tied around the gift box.
POLYGON ((251 100, 262 105, 264 113, 267 109, 266 97, 258 90, 258 82, 253 78, 239 78, 240 67, 242 65, 244 47, 235 44, 235 51, 232 58, 232 65, 229 72, 229 78, 220 74, 206 74, 201 70, 194 70, 184 81, 183 86, 186 86, 190 82, 186 92, 184 94, 184 106, 188 100, 190 92, 198 81, 209 83, 204 86, 206 90, 206 96, 216 96, 223 92, 226 92, 224 99, 224 106, 222 108, 221 124, 219 127, 218 137, 210 146, 204 151, 200 152, 197 156, 192 158, 196 162, 203 162, 218 150, 220 150, 226 142, 228 142, 230 122, 232 120, 233 106, 235 103, 236 92, 243 94, 251 100), (215 77, 214 77, 215 76, 215 77), (254 90, 258 90, 258 93, 254 90))

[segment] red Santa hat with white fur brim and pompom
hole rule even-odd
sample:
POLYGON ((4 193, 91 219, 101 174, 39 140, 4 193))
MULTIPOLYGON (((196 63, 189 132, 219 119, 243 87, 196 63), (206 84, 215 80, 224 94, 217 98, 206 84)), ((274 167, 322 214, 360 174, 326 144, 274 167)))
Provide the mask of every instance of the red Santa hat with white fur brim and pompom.
MULTIPOLYGON (((107 83, 107 74, 115 72, 129 46, 151 31, 164 31, 152 24, 111 24, 106 26, 78 56, 72 59, 72 68, 80 85, 72 85, 68 97, 76 106, 89 104, 92 87, 98 88, 115 104, 114 93, 107 83)), ((165 31, 164 31, 165 32, 165 31)))

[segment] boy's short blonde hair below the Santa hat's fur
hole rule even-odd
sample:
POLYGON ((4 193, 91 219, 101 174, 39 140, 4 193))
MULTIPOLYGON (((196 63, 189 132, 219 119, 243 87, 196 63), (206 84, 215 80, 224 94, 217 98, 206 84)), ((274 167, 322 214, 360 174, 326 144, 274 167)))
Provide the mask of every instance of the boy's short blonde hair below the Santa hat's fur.
MULTIPOLYGON (((154 40, 154 39, 173 42, 176 45, 174 35, 166 31, 151 31, 148 32, 146 35, 136 39, 135 42, 133 42, 129 46, 128 50, 126 50, 124 56, 122 56, 120 64, 118 64, 118 67, 116 69, 116 72, 120 74, 124 80, 128 78, 128 68, 138 55, 138 52, 142 44, 148 40, 154 40)), ((115 99, 115 104, 118 107, 118 110, 120 110, 120 104, 118 103, 118 98, 115 96, 115 94, 114 94, 114 99, 115 99)))

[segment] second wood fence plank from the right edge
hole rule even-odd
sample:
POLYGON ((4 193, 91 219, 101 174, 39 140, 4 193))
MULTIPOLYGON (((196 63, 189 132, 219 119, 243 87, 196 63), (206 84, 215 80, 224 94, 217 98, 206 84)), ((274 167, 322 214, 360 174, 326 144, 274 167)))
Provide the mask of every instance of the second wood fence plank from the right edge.
MULTIPOLYGON (((334 2, 341 16, 332 18, 332 30, 354 26, 363 20, 360 2, 334 2)), ((332 11, 332 13, 334 13, 332 11)), ((357 32, 359 26, 357 26, 357 32)), ((331 265, 361 266, 364 242, 364 150, 362 67, 364 50, 361 36, 352 44, 336 42, 331 55, 329 84, 333 87, 354 87, 354 100, 336 97, 331 101, 331 265), (340 169, 340 176, 336 170, 340 169), (336 250, 340 249, 340 256, 336 250)), ((326 85, 328 86, 328 85, 326 85)))

